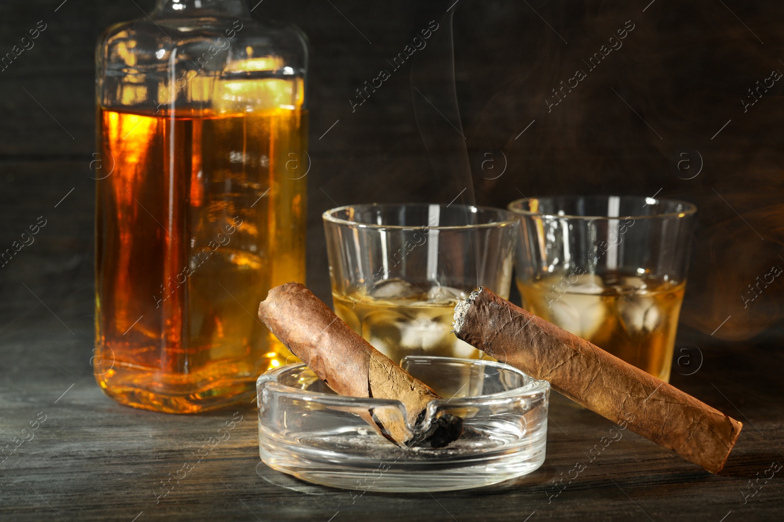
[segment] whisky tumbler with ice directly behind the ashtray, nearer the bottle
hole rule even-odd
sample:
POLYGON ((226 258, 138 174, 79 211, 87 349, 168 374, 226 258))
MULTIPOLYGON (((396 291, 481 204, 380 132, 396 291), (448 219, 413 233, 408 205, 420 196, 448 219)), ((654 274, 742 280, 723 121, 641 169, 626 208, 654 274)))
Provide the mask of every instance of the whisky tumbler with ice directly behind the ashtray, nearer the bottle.
POLYGON ((335 312, 394 362, 405 355, 481 358, 452 315, 478 286, 504 297, 519 222, 495 208, 364 204, 324 213, 335 312))

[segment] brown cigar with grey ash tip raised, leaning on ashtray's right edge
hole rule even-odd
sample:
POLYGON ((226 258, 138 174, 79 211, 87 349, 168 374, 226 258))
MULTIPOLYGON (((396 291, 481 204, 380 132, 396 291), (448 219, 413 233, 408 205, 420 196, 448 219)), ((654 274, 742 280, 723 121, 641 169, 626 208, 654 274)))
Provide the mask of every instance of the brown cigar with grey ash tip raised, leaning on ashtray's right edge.
POLYGON ((459 339, 710 473, 738 440, 737 420, 489 290, 457 304, 453 326, 459 339))

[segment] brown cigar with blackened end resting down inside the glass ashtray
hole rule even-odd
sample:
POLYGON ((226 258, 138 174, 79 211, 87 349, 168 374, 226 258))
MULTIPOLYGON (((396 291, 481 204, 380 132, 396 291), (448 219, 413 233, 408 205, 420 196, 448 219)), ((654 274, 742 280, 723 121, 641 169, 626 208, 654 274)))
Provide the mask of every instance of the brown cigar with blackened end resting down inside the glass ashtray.
MULTIPOLYGON (((259 319, 332 390, 352 397, 397 399, 405 405, 412 427, 424 419, 428 403, 440 398, 372 347, 300 283, 270 290, 259 304, 259 319)), ((397 444, 431 448, 448 445, 463 430, 463 419, 451 415, 434 420, 416 437, 383 411, 368 412, 365 420, 397 444)))

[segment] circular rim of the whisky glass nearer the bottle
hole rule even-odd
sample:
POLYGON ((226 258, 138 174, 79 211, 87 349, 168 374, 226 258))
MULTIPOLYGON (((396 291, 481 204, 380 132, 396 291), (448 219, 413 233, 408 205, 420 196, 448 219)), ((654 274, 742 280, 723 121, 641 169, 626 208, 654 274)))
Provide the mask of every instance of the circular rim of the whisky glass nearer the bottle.
POLYGON ((360 203, 356 205, 343 205, 342 207, 330 208, 321 214, 324 221, 336 223, 337 225, 347 225, 349 227, 358 229, 376 229, 376 230, 419 230, 426 227, 431 230, 472 230, 472 229, 493 229, 496 227, 516 225, 520 218, 515 215, 514 211, 498 207, 485 207, 482 205, 463 205, 462 203, 452 205, 449 203, 360 203), (463 208, 470 210, 472 213, 477 214, 477 211, 490 211, 495 212, 499 216, 506 216, 502 221, 492 221, 491 223, 477 223, 475 225, 428 225, 426 222, 421 225, 385 225, 378 223, 363 223, 361 221, 349 221, 347 219, 336 218, 333 214, 339 211, 345 211, 348 208, 372 208, 372 207, 430 207, 430 205, 438 205, 442 208, 463 208))

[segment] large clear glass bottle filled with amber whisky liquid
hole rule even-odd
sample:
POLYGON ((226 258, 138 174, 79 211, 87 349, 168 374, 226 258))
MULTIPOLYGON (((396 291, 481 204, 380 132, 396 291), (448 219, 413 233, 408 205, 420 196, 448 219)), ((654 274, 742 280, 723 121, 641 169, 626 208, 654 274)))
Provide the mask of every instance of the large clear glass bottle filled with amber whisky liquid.
POLYGON ((256 309, 305 279, 306 69, 242 0, 158 0, 98 41, 92 362, 122 404, 250 404, 296 360, 256 309))

